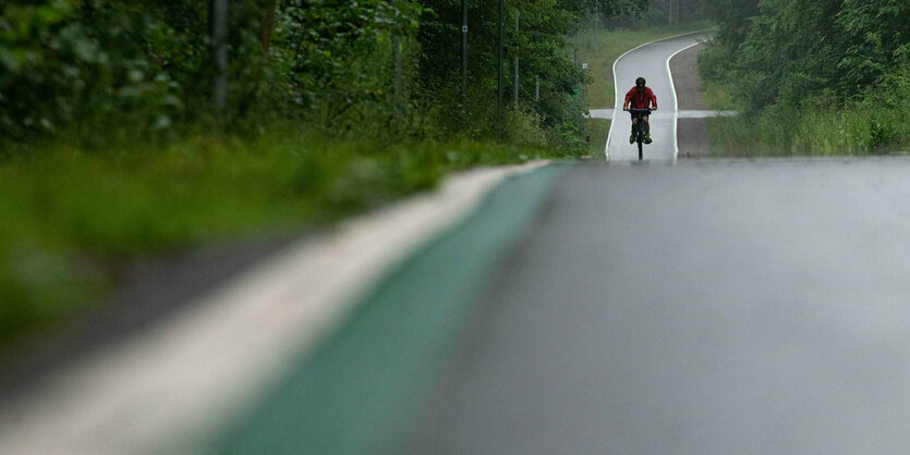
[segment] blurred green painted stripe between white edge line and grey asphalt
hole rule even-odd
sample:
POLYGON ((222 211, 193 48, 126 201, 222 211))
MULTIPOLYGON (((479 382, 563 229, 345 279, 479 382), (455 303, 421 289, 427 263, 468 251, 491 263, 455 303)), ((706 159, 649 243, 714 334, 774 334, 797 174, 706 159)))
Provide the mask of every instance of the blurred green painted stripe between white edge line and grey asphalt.
POLYGON ((418 423, 489 278, 568 170, 548 165, 501 184, 356 303, 335 335, 213 441, 214 452, 395 452, 418 423))

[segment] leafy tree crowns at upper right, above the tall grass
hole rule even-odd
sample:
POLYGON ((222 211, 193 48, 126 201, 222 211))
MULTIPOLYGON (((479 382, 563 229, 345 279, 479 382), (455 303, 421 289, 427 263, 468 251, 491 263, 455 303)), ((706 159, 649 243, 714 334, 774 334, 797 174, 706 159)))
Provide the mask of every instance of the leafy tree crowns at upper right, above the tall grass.
POLYGON ((702 73, 752 110, 842 102, 906 63, 909 14, 897 0, 726 0, 702 73))

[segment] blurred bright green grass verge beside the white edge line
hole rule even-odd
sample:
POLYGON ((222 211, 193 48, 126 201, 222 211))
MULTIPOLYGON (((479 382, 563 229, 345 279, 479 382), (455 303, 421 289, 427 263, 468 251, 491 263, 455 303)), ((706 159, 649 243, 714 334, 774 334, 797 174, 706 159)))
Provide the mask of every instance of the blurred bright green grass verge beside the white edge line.
POLYGON ((482 143, 330 140, 292 131, 0 162, 0 346, 105 302, 148 254, 300 232, 434 187, 447 172, 567 153, 482 143))

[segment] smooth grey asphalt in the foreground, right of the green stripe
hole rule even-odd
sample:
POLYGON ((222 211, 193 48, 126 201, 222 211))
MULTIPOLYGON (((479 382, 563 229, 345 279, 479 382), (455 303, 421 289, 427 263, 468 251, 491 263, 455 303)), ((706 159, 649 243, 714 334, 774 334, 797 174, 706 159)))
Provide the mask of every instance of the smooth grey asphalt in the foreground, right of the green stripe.
POLYGON ((580 165, 410 448, 902 453, 910 159, 580 165))

